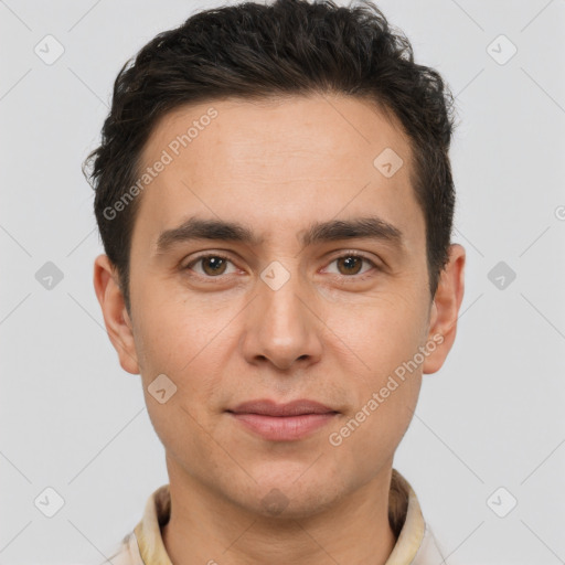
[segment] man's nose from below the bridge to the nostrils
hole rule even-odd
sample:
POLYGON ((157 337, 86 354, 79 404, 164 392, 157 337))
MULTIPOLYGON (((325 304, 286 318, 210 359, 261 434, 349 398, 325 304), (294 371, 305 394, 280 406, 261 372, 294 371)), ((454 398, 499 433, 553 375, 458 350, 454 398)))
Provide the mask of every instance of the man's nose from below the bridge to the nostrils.
POLYGON ((298 275, 273 289, 263 280, 248 306, 243 354, 248 363, 270 363, 280 371, 305 369, 321 358, 323 322, 298 275))

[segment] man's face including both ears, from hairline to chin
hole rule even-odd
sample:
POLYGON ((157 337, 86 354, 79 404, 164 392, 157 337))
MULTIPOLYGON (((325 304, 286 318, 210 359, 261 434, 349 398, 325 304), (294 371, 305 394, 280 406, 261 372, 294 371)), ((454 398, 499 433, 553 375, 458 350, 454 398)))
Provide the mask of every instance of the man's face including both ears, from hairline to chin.
POLYGON ((138 196, 131 316, 105 256, 95 284, 171 481, 300 516, 385 472, 462 298, 460 249, 429 296, 399 127, 354 98, 227 99, 167 115, 142 161, 167 163, 138 196), (238 411, 297 399, 324 414, 238 411))

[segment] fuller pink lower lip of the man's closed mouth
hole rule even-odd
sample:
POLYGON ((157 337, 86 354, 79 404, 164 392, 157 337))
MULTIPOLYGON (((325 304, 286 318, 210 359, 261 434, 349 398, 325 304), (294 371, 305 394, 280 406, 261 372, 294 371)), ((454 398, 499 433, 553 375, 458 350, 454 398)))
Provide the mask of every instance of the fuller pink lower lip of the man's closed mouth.
POLYGON ((252 431, 271 441, 301 439, 329 424, 338 414, 302 414, 300 416, 264 416, 262 414, 234 414, 252 431))

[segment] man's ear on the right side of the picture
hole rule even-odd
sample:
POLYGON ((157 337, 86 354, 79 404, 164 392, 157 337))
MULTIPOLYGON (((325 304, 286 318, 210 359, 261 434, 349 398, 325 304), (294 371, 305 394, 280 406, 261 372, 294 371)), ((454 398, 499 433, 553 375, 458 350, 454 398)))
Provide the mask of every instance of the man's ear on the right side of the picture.
POLYGON ((440 274, 431 305, 427 343, 435 343, 436 348, 426 356, 423 365, 425 374, 439 371, 447 359, 455 341, 463 292, 465 248, 459 244, 452 244, 449 246, 449 262, 440 274))

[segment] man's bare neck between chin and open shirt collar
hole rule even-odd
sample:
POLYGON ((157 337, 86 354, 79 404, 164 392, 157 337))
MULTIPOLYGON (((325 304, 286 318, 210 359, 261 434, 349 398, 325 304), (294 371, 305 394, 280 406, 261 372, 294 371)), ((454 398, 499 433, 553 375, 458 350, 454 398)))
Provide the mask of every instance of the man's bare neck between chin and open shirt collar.
POLYGON ((162 537, 175 565, 384 565, 396 543, 388 523, 392 466, 331 508, 294 518, 253 513, 194 478, 169 475, 162 537))

